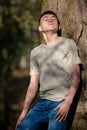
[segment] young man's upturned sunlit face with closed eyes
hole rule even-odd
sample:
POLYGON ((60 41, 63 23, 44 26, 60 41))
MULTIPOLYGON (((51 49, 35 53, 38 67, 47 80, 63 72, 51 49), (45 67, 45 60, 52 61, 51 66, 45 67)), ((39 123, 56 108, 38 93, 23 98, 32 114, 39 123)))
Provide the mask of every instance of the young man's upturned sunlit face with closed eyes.
POLYGON ((55 31, 59 29, 58 20, 53 14, 45 14, 40 19, 39 31, 55 31))

